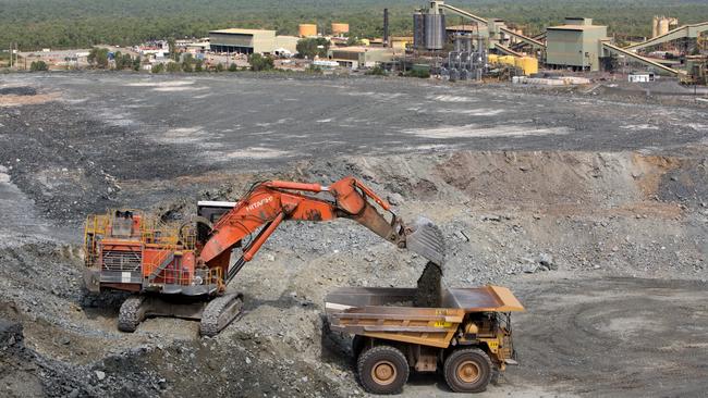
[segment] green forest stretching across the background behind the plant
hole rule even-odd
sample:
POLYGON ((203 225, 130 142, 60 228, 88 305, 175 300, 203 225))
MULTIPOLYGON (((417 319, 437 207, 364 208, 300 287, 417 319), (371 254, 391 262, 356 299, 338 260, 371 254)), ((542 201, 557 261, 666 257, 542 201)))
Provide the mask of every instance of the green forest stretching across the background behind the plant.
MULTIPOLYGON (((251 27, 294 35, 301 23, 346 22, 351 35, 380 37, 383 8, 392 35, 410 35, 413 0, 0 0, 0 48, 21 50, 130 46, 148 39, 204 37, 211 29, 251 27)), ((648 36, 652 15, 681 24, 708 21, 706 0, 450 0, 485 17, 539 33, 565 16, 593 17, 618 37, 648 36)), ((450 17, 449 24, 462 20, 450 17)))

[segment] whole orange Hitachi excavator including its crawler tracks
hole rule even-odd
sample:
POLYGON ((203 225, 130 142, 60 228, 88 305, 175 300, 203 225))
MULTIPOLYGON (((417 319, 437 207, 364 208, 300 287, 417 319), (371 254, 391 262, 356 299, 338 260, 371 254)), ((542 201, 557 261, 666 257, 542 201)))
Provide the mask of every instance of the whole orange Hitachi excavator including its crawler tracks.
POLYGON ((121 331, 135 331, 146 316, 178 316, 200 320, 200 333, 213 336, 243 307, 243 295, 228 294, 227 285, 283 221, 338 217, 351 219, 432 263, 444 260, 437 226, 426 219, 405 225, 387 201, 354 177, 330 186, 267 181, 236 202, 199 202, 197 215, 179 225, 131 210, 89 215, 85 285, 90 291, 135 293, 121 306, 121 331))

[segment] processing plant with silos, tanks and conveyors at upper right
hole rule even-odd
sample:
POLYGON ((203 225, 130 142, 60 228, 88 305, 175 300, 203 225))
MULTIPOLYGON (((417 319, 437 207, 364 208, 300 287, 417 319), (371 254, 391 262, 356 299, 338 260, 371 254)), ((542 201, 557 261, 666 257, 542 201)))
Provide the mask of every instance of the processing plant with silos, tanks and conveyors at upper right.
MULTIPOLYGON (((428 8, 413 14, 413 47, 416 51, 434 54, 441 52, 449 49, 448 33, 453 30, 453 48, 448 51, 448 59, 441 69, 442 74, 447 73, 451 78, 478 78, 489 64, 493 65, 497 61, 504 60, 497 64, 524 66, 530 63, 524 61, 524 58, 534 58, 537 63, 535 67, 529 64, 517 69, 516 73, 534 73, 538 64, 551 70, 612 71, 623 62, 640 65, 656 74, 695 80, 693 77, 705 75, 703 71, 706 69, 706 57, 692 60, 684 57, 685 62, 676 62, 644 53, 647 49, 676 40, 696 40, 696 48, 705 42, 708 22, 671 28, 675 25, 675 18, 655 17, 651 38, 620 46, 608 35, 607 26, 596 25, 587 17, 567 17, 562 25, 549 26, 545 33, 532 37, 524 35, 521 29, 508 26, 502 20, 477 16, 444 1, 430 1, 428 8), (468 20, 474 28, 447 29, 448 15, 468 20), (499 57, 490 57, 495 54, 499 57), (504 57, 520 60, 512 62, 504 57)), ((686 51, 683 52, 685 55, 686 51)))

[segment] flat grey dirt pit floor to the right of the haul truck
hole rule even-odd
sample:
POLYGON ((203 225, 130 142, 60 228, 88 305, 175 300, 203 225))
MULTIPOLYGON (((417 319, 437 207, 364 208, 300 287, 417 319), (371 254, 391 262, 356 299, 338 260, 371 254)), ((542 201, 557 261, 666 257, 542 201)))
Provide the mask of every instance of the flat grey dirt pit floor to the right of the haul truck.
POLYGON ((644 278, 553 278, 521 287, 514 376, 578 395, 705 394, 706 285, 644 278))

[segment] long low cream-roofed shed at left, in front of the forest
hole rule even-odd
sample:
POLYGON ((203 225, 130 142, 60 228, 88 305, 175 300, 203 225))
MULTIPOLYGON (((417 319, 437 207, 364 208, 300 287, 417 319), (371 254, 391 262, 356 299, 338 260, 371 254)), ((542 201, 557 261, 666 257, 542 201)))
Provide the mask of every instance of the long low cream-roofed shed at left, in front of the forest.
POLYGON ((209 32, 213 52, 274 54, 285 50, 294 54, 297 40, 294 36, 276 36, 276 30, 230 28, 209 32))

